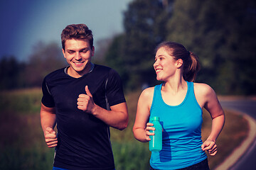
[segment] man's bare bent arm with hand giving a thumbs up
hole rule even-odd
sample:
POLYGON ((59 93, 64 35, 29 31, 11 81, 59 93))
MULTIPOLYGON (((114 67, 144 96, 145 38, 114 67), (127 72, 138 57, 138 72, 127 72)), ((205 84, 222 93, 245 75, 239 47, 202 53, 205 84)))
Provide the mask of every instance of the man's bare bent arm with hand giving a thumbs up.
POLYGON ((111 111, 107 111, 100 106, 97 106, 90 93, 88 86, 85 86, 86 94, 80 94, 78 97, 78 109, 91 113, 96 118, 99 118, 112 128, 124 130, 128 125, 128 109, 127 103, 119 103, 110 106, 111 111))

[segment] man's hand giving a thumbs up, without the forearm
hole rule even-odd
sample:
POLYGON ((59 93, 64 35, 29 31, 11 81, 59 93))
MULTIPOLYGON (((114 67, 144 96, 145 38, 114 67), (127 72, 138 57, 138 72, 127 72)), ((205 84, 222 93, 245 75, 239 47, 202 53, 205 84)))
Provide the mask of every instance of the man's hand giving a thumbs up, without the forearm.
POLYGON ((88 86, 85 86, 85 92, 86 94, 80 94, 78 96, 78 109, 92 113, 95 108, 95 103, 88 86))

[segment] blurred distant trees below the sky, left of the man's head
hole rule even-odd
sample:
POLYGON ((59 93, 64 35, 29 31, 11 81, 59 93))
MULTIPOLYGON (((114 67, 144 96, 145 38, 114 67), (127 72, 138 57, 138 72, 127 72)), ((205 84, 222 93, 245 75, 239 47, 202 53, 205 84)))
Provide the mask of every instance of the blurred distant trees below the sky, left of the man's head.
POLYGON ((0 60, 0 91, 41 86, 46 74, 64 66, 61 48, 54 42, 47 45, 40 42, 27 62, 7 56, 0 60))

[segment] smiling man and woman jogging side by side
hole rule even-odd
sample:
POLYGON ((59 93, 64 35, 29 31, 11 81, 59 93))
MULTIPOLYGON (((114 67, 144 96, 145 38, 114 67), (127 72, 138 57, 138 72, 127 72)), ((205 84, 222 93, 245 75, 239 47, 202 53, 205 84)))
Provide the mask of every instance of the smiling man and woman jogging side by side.
MULTIPOLYGON (((114 69, 92 64, 95 47, 85 24, 67 26, 61 40, 68 67, 48 74, 42 84, 41 126, 46 144, 55 147, 53 169, 113 170, 110 127, 123 130, 128 123, 122 81, 114 69)), ((216 154, 225 116, 213 89, 193 83, 198 58, 183 45, 162 42, 153 66, 163 83, 142 91, 133 128, 137 140, 148 142, 154 135, 149 118, 160 118, 163 149, 151 153, 150 169, 208 169, 205 151, 216 154), (213 119, 204 142, 203 108, 213 119)))

